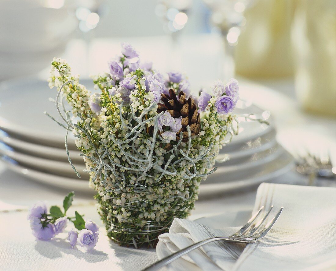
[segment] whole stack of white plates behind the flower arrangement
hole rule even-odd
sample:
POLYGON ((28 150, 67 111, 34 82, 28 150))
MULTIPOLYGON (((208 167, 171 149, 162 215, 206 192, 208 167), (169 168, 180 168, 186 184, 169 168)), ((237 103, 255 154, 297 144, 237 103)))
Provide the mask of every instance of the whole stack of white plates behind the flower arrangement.
MULTIPOLYGON (((82 83, 93 89, 90 80, 82 83)), ((37 79, 0 85, 1 159, 11 170, 35 181, 78 192, 91 191, 74 138, 69 136, 70 156, 81 178, 68 162, 65 129, 43 114, 47 111, 59 120, 54 103, 48 100, 55 96, 55 90, 37 79)), ((240 134, 223 147, 218 157, 229 160, 218 163, 217 171, 201 185, 201 197, 258 185, 288 172, 293 165, 291 155, 276 141, 269 112, 240 101, 236 113, 253 113, 270 125, 241 118, 240 134)))

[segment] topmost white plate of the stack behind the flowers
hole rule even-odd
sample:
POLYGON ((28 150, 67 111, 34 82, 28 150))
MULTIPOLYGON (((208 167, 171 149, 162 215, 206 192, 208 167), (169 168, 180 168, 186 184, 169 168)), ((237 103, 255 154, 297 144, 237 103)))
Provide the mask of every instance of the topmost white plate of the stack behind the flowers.
MULTIPOLYGON (((88 89, 93 89, 90 79, 80 81, 88 89)), ((50 90, 48 83, 39 79, 21 79, 5 81, 0 84, 0 128, 11 137, 29 142, 64 148, 64 128, 54 123, 43 114, 47 111, 50 115, 60 120, 54 103, 49 97, 56 97, 56 90, 50 90), (22 110, 13 110, 13 107, 22 110)), ((268 112, 256 106, 240 102, 235 109, 237 114, 254 113, 258 118, 270 120, 268 112)), ((241 122, 240 135, 236 136, 231 145, 242 143, 266 134, 272 126, 260 125, 258 122, 241 122)), ((74 137, 69 136, 69 148, 76 150, 74 137)))

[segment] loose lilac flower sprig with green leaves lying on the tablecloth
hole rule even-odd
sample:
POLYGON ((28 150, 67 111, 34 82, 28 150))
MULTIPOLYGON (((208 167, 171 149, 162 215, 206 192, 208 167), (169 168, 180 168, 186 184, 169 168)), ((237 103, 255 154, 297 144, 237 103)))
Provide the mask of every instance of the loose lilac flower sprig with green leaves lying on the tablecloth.
POLYGON ((64 232, 71 221, 76 229, 71 229, 68 233, 68 241, 72 248, 77 245, 83 247, 84 250, 92 250, 97 242, 99 235, 99 227, 92 220, 84 220, 76 211, 74 217, 67 216, 67 211, 72 205, 75 193, 72 191, 65 196, 63 201, 64 212, 60 207, 48 207, 45 202, 39 201, 34 204, 28 212, 27 219, 30 221, 30 227, 33 235, 39 240, 50 240, 56 234, 64 232))

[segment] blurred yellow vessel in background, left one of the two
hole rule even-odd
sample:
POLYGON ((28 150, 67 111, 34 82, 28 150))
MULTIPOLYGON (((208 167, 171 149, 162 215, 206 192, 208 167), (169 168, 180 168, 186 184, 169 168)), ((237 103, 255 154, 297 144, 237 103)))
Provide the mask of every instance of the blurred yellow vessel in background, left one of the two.
POLYGON ((245 12, 236 72, 250 78, 293 75, 290 31, 293 0, 259 0, 245 12))

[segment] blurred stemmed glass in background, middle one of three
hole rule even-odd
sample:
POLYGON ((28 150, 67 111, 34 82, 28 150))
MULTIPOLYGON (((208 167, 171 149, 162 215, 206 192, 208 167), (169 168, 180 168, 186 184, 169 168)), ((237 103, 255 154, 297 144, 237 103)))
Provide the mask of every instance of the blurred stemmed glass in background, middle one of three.
POLYGON ((171 38, 170 55, 168 69, 181 69, 181 56, 178 47, 178 39, 181 30, 188 21, 188 11, 193 4, 193 0, 158 0, 155 7, 155 14, 161 18, 163 29, 171 38))

